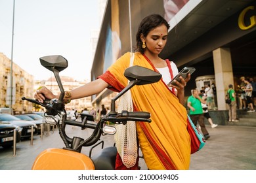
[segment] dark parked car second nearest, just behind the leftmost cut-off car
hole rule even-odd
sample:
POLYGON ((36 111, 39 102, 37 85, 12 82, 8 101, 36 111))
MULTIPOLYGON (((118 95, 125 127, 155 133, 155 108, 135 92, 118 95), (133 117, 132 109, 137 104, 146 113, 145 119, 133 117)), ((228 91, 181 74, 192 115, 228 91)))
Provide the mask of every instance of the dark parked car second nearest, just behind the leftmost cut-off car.
POLYGON ((19 118, 12 116, 11 114, 0 114, 0 122, 2 122, 2 124, 12 124, 21 127, 22 139, 28 139, 31 137, 32 126, 33 134, 37 134, 37 125, 33 124, 32 122, 20 120, 19 118))

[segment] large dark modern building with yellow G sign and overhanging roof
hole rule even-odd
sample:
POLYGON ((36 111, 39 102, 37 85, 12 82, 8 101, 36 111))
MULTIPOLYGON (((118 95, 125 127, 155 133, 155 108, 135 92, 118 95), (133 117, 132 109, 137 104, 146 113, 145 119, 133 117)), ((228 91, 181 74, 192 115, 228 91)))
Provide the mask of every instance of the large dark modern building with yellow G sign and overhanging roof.
MULTIPOLYGON (((92 80, 125 54, 133 52, 137 27, 145 16, 157 13, 166 17, 168 6, 159 0, 111 0, 106 5, 92 80)), ((189 0, 168 18, 168 41, 160 57, 174 61, 181 70, 195 67, 186 86, 186 97, 196 88, 196 78, 213 75, 217 106, 226 110, 224 95, 228 84, 237 86, 240 76, 256 77, 256 3, 253 0, 189 0)), ((235 88, 236 89, 236 88, 235 88)), ((95 95, 95 103, 108 92, 95 95), (100 96, 101 95, 101 96, 100 96)))

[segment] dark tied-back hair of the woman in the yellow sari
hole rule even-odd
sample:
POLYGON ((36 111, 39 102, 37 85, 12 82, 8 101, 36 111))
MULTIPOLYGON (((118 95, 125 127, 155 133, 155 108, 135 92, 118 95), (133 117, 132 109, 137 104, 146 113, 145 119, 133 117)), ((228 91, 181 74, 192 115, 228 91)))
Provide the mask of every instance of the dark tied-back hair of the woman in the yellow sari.
POLYGON ((143 36, 146 37, 152 29, 155 29, 156 27, 159 27, 162 24, 164 24, 167 27, 167 29, 169 29, 170 25, 160 14, 150 14, 149 16, 146 16, 140 22, 140 25, 138 27, 138 31, 136 34, 137 46, 135 48, 135 51, 144 54, 145 50, 142 48, 140 34, 142 33, 143 36))

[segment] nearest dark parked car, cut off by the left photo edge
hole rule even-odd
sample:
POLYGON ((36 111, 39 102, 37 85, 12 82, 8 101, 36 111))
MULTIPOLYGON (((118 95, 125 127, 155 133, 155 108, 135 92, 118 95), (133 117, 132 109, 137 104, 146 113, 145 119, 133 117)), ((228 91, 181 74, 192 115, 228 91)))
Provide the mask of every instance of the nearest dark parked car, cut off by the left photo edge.
POLYGON ((0 146, 11 148, 13 146, 14 131, 16 130, 16 143, 20 142, 21 127, 0 122, 0 146))

